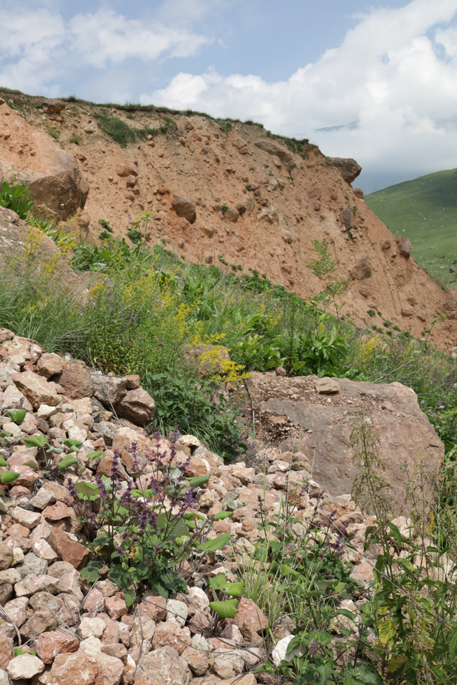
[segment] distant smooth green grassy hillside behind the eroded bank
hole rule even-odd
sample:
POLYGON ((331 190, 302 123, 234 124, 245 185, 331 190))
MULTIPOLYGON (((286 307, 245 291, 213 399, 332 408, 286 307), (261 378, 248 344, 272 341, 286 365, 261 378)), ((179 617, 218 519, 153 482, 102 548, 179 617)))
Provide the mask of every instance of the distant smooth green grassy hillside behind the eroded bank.
POLYGON ((454 169, 365 196, 394 235, 409 238, 412 256, 439 281, 457 287, 457 178, 454 169), (450 273, 449 269, 455 269, 450 273))

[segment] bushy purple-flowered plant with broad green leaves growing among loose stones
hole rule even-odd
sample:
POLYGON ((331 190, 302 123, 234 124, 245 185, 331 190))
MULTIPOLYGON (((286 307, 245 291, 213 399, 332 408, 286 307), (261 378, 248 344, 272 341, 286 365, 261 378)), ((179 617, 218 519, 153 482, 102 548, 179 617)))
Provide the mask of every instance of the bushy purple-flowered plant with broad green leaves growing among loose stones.
POLYGON ((114 451, 110 477, 96 475, 96 485, 67 482, 94 554, 82 577, 94 582, 108 564, 110 579, 127 592, 127 604, 147 588, 162 597, 185 591, 184 561, 228 542, 226 536, 206 542, 214 518, 196 511, 201 490, 187 475, 190 458, 177 467, 177 436, 175 431, 169 449, 162 447, 159 432, 149 453, 139 454, 132 445, 135 479, 124 479, 114 451))

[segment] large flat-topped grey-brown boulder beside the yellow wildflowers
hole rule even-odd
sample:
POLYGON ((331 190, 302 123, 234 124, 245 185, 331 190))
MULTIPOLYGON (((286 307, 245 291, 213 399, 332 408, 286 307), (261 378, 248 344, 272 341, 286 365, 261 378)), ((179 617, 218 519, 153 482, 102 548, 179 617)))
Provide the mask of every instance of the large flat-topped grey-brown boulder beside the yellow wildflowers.
POLYGON ((356 466, 351 432, 360 414, 380 440, 384 477, 393 488, 393 503, 405 501, 404 466, 427 457, 430 490, 444 456, 444 447, 417 395, 401 383, 376 384, 335 379, 338 393, 321 395, 316 376, 284 378, 253 373, 251 389, 260 401, 264 440, 282 451, 302 452, 312 464, 312 479, 333 496, 351 492, 356 466))

